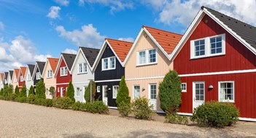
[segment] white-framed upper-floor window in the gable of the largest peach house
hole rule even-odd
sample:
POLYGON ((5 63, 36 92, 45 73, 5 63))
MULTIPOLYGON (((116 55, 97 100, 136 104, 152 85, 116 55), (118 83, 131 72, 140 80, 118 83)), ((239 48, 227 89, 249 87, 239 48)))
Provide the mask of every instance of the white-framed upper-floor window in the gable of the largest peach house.
POLYGON ((156 49, 148 49, 137 54, 137 65, 148 65, 157 62, 156 49))

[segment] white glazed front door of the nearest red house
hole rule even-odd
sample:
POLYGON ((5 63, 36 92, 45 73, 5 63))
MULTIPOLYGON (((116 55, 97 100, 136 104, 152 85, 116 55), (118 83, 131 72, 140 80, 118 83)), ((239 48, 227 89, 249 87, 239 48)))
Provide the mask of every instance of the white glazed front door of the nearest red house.
POLYGON ((193 82, 193 109, 204 103, 204 82, 193 82))

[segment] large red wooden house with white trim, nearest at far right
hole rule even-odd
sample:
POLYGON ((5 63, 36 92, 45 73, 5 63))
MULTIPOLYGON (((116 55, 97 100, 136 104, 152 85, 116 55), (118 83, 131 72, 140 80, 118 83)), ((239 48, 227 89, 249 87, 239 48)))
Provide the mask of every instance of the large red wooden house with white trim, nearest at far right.
POLYGON ((241 120, 256 121, 256 28, 201 7, 171 54, 182 79, 179 112, 206 101, 231 102, 241 120))

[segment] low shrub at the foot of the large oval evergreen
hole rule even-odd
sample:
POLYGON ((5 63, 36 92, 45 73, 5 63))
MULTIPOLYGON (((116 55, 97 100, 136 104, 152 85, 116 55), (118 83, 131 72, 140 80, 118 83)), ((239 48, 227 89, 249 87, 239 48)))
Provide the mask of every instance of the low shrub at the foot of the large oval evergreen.
POLYGON ((188 120, 185 115, 178 115, 176 113, 171 113, 171 114, 166 114, 166 122, 187 125, 188 120))

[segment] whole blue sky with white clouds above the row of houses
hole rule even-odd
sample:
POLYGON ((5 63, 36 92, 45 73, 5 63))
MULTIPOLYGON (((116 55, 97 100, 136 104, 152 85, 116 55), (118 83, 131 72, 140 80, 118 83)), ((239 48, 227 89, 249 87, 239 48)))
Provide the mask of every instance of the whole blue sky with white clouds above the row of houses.
POLYGON ((255 25, 254 0, 0 0, 0 72, 100 48, 105 37, 133 41, 141 25, 185 33, 202 5, 255 25), (243 4, 241 4, 243 3, 243 4))

